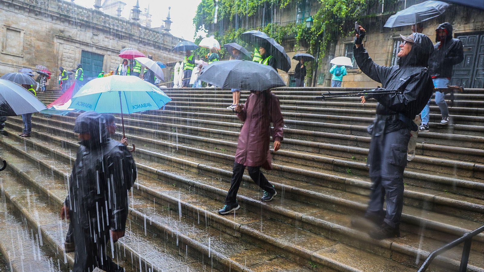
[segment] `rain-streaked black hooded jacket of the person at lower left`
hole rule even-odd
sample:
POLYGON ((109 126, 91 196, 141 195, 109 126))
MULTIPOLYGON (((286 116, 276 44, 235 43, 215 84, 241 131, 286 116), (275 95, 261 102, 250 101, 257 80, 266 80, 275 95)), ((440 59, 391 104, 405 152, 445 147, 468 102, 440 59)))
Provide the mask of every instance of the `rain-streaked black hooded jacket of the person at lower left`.
POLYGON ((81 141, 69 179, 65 205, 74 212, 71 219, 80 217, 84 232, 89 231, 90 224, 123 231, 128 215, 127 191, 136 180, 133 157, 123 144, 109 138, 106 121, 96 112, 79 115, 74 132, 89 133, 91 139, 81 141))

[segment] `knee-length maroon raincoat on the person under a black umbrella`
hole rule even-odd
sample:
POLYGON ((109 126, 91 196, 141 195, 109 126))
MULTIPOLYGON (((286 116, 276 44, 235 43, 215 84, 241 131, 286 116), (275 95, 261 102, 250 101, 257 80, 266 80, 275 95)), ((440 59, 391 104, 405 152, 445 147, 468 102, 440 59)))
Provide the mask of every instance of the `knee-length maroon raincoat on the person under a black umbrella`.
POLYGON ((270 136, 272 134, 274 141, 282 141, 284 138, 284 119, 279 99, 270 91, 253 91, 237 116, 244 123, 237 143, 235 161, 244 166, 272 169, 270 136))

